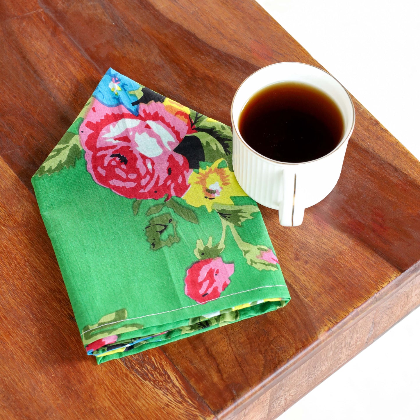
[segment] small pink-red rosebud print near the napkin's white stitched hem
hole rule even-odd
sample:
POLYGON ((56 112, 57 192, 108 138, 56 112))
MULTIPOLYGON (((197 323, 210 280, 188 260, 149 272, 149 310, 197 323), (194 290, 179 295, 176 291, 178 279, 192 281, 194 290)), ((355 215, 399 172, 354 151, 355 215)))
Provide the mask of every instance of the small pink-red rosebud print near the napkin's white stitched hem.
POLYGON ((221 257, 200 260, 186 271, 185 294, 198 303, 220 297, 230 283, 234 265, 226 264, 221 257))

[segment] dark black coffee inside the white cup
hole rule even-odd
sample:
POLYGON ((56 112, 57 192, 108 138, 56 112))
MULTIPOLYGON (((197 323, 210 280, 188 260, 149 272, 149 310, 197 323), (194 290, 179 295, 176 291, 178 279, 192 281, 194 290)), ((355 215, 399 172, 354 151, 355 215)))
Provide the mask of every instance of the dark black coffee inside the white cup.
POLYGON ((239 115, 239 132, 256 152, 278 162, 308 162, 339 144, 344 121, 320 89, 297 82, 271 84, 255 93, 239 115))

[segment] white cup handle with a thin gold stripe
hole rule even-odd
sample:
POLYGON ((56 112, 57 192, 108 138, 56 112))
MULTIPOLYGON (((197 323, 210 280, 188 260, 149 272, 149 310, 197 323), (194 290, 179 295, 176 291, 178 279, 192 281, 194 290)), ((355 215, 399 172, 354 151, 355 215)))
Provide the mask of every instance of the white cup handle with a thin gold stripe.
POLYGON ((299 199, 299 176, 294 171, 283 171, 283 199, 278 209, 281 226, 299 226, 303 222, 305 208, 299 199))

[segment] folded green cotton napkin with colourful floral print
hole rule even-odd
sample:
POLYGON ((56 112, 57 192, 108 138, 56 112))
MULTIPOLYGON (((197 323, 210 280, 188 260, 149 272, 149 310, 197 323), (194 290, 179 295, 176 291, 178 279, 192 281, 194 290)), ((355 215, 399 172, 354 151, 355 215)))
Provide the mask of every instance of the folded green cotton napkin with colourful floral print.
POLYGON ((98 363, 289 301, 231 149, 228 126, 110 68, 32 177, 98 363))

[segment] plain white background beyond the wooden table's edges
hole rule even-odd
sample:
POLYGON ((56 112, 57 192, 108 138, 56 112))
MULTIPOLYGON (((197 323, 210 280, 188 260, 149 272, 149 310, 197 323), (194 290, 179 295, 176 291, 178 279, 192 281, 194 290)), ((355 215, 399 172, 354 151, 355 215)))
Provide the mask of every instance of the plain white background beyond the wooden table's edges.
MULTIPOLYGON (((420 159, 417 1, 257 1, 420 159)), ((419 349, 415 310, 280 420, 420 419, 419 349)))

